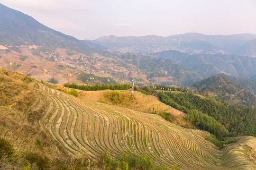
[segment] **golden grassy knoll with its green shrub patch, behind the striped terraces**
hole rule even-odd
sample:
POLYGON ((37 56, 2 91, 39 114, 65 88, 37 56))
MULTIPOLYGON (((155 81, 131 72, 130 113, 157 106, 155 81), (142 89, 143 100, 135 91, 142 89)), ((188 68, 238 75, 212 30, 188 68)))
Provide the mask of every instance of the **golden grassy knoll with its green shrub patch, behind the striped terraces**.
MULTIPOLYGON (((71 91, 71 88, 64 87, 62 85, 51 84, 51 83, 46 83, 46 84, 54 87, 55 89, 61 89, 66 92, 71 91)), ((146 112, 146 113, 152 113, 153 110, 154 112, 156 111, 157 113, 160 113, 160 112, 171 113, 174 117, 174 120, 172 121, 172 123, 176 125, 192 126, 191 122, 188 122, 184 119, 184 116, 186 116, 185 113, 183 113, 182 111, 176 110, 171 106, 166 105, 163 102, 160 102, 157 97, 152 95, 146 95, 136 91, 135 95, 132 96, 132 95, 129 95, 129 92, 125 90, 115 90, 115 91, 77 90, 77 92, 78 92, 78 97, 82 99, 89 99, 92 101, 108 103, 111 105, 117 105, 120 107, 125 107, 125 108, 146 112), (118 96, 116 96, 115 99, 113 100, 113 95, 116 95, 117 93, 118 93, 118 96)))

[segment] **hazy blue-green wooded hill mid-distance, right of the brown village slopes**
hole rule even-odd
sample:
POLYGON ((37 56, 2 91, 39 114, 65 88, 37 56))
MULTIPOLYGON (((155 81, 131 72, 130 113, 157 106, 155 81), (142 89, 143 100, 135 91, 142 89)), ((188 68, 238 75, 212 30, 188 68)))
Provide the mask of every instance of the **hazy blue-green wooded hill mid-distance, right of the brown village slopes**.
MULTIPOLYGON (((200 73, 181 66, 170 59, 157 59, 143 55, 126 53, 121 56, 126 64, 132 64, 147 75, 151 83, 157 83, 158 77, 165 79, 163 85, 188 85, 203 78, 200 73)), ((159 83, 158 83, 159 84, 159 83)))

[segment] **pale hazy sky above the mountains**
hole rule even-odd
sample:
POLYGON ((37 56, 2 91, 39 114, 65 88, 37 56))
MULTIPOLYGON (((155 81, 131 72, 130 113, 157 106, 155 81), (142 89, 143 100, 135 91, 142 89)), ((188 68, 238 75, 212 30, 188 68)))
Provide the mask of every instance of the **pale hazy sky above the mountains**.
POLYGON ((104 35, 256 34, 256 0, 0 0, 78 39, 104 35))

